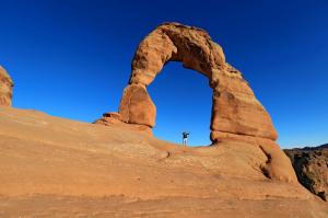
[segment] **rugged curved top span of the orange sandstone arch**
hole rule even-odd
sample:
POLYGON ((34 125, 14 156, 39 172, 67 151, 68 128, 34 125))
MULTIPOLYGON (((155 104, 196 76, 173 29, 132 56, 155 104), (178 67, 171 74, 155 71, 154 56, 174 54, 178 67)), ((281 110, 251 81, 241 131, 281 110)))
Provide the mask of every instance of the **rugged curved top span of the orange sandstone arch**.
POLYGON ((140 43, 131 66, 129 83, 149 85, 167 61, 180 61, 185 68, 196 70, 212 80, 215 73, 226 72, 241 77, 241 72, 225 62, 220 45, 202 28, 179 23, 163 23, 140 43))

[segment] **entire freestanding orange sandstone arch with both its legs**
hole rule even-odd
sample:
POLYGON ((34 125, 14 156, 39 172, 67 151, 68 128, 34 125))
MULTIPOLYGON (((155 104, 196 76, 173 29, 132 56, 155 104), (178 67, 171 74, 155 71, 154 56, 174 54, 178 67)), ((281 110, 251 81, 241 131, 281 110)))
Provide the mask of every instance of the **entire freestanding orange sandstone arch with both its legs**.
MULTIPOLYGON (((256 99, 242 73, 225 61, 225 56, 210 35, 198 27, 164 23, 139 45, 131 66, 129 84, 124 90, 118 114, 104 116, 97 124, 122 123, 155 125, 156 107, 147 92, 164 65, 180 61, 209 78, 212 94, 211 140, 246 141, 258 146, 268 158, 262 165, 270 179, 297 181, 290 160, 274 142, 278 134, 270 115, 256 99)), ((110 113, 107 113, 110 114, 110 113)), ((138 128, 140 129, 140 128, 138 128)))

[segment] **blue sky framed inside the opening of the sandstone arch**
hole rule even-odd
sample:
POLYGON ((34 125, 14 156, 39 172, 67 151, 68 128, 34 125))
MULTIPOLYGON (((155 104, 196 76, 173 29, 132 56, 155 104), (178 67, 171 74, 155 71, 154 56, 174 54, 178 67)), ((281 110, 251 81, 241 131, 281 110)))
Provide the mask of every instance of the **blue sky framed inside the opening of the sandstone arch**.
POLYGON ((169 61, 148 87, 156 105, 156 138, 183 144, 181 133, 189 131, 188 146, 208 146, 211 121, 211 89, 202 74, 169 61))

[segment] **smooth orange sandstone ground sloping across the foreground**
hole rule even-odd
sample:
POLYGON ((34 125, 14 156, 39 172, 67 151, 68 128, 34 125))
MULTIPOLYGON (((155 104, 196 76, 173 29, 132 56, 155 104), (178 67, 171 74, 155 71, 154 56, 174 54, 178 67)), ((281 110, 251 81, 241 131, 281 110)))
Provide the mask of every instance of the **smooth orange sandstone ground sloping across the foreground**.
POLYGON ((0 217, 328 217, 300 184, 260 171, 245 142, 187 148, 0 107, 0 217))

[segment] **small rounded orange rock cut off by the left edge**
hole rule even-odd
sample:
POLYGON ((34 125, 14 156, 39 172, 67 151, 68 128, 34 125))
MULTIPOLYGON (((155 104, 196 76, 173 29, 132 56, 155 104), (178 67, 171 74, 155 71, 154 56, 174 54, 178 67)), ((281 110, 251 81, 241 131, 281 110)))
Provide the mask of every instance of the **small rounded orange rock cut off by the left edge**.
POLYGON ((0 105, 11 106, 13 81, 0 66, 0 105))

